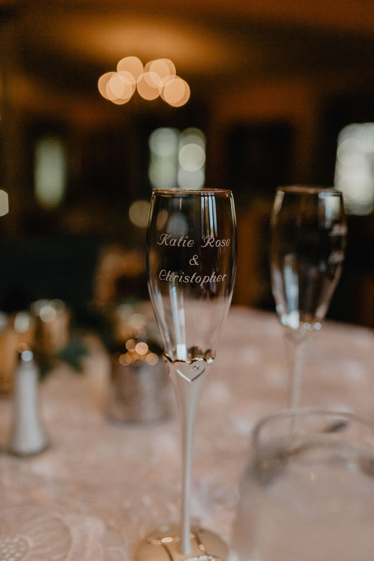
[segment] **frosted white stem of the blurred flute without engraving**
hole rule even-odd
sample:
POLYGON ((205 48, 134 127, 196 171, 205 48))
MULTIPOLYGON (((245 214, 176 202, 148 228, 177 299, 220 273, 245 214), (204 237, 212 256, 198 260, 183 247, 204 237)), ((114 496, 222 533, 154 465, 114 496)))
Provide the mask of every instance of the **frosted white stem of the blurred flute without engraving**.
POLYGON ((301 401, 304 365, 310 335, 306 334, 301 341, 295 341, 293 338, 286 336, 285 341, 290 365, 289 407, 290 409, 298 409, 301 401))

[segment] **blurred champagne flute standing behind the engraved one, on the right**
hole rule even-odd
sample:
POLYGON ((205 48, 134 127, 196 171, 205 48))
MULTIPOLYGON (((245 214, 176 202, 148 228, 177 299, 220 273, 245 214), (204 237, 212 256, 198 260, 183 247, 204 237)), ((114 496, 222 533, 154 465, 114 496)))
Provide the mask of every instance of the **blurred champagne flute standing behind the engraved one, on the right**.
POLYGON ((344 260, 343 197, 328 187, 276 191, 271 214, 271 283, 291 369, 289 405, 299 407, 306 346, 321 328, 344 260))

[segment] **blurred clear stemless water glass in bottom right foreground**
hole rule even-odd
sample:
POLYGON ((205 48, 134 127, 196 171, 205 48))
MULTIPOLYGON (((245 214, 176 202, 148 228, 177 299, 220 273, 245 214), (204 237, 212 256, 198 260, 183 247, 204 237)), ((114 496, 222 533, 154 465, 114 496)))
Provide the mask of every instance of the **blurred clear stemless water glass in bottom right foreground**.
POLYGON ((349 413, 285 411, 261 420, 252 444, 232 561, 371 561, 372 423, 349 413))

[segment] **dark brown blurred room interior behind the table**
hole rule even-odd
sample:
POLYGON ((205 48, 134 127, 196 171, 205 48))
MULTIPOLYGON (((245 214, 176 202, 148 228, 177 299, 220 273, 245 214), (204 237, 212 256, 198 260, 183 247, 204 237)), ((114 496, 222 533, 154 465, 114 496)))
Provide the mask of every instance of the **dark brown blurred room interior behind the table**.
MULTIPOLYGON (((204 133, 205 186, 232 188, 236 199, 234 302, 274 309, 267 251, 276 186, 334 185, 340 131, 374 122, 372 0, 0 0, 0 49, 7 312, 42 297, 73 308, 146 297, 145 228, 129 210, 150 198, 149 137, 160 127, 204 133), (171 59, 190 85, 188 102, 104 99, 99 77, 127 56, 171 59), (40 160, 47 172, 48 161, 59 168, 55 199, 38 195, 40 160)), ((352 134, 346 163, 362 156, 352 134)), ((374 327, 372 144, 329 316, 374 327)))

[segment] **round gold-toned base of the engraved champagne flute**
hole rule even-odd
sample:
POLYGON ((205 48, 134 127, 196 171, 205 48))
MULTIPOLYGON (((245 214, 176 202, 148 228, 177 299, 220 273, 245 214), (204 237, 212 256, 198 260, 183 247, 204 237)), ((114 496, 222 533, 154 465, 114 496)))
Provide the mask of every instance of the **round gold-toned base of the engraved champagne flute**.
POLYGON ((191 528, 191 553, 179 551, 179 526, 160 526, 138 546, 135 561, 227 561, 228 546, 214 532, 191 528))

